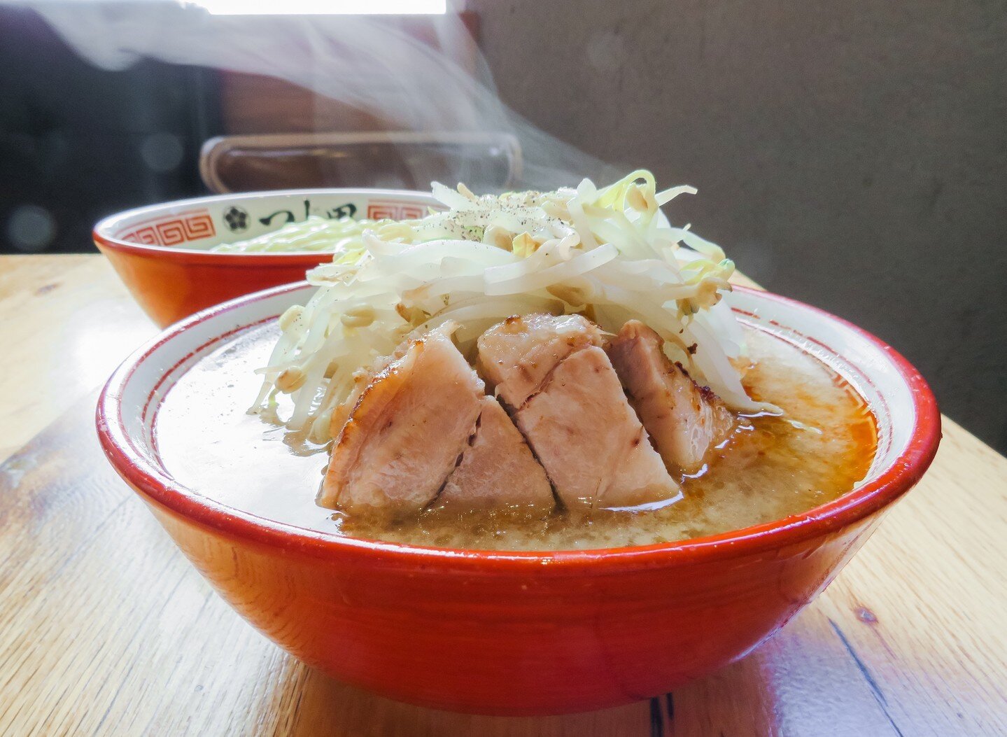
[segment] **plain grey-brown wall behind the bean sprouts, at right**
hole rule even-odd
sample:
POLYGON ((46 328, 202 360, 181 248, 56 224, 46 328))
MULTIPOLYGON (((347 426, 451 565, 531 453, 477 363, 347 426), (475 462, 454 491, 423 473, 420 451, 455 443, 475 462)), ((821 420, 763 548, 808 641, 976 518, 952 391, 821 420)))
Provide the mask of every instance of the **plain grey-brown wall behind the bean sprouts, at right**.
POLYGON ((503 101, 875 332, 1007 451, 1007 6, 471 0, 503 101), (681 204, 679 204, 681 202, 681 204))

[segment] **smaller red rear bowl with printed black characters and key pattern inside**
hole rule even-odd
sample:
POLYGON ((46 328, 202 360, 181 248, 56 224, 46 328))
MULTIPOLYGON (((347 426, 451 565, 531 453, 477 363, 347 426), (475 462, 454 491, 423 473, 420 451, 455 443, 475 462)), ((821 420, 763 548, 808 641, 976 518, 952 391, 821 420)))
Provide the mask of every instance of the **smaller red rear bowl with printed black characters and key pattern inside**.
POLYGON ((308 214, 405 219, 439 206, 424 192, 288 189, 138 207, 95 226, 105 254, 136 301, 164 327, 205 307, 304 279, 330 254, 223 254, 207 249, 255 238, 308 214))

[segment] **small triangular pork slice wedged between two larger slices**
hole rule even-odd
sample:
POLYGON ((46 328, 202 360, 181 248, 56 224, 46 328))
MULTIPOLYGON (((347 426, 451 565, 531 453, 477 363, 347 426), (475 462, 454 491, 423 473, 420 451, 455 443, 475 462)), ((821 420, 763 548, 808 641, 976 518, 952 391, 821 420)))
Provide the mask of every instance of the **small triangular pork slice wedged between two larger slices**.
POLYGON ((549 511, 553 489, 524 436, 492 397, 481 401, 478 426, 437 497, 445 509, 522 507, 549 511))

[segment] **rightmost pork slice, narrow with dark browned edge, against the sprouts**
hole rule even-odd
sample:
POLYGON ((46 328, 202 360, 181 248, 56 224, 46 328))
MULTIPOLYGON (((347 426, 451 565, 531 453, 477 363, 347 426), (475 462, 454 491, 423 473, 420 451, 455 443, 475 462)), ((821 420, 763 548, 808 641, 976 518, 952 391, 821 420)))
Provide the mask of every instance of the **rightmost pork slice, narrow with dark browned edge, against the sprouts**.
POLYGON ((723 401, 669 360, 661 336, 637 320, 622 326, 608 356, 665 463, 686 473, 702 468, 734 426, 723 401))

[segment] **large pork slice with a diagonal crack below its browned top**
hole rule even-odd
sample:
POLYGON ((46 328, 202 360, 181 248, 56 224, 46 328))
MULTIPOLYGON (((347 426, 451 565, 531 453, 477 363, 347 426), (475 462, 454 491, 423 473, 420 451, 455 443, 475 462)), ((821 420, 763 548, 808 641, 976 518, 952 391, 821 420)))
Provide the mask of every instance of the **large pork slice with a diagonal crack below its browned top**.
POLYGON ((480 336, 478 365, 568 507, 674 498, 680 488, 600 342, 598 328, 577 315, 512 317, 480 336))

